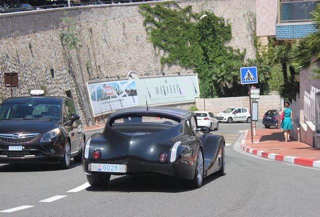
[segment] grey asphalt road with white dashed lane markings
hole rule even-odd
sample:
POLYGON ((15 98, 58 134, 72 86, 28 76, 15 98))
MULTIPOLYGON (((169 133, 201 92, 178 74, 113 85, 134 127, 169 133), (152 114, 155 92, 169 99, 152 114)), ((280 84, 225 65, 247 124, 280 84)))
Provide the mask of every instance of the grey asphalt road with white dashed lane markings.
POLYGON ((238 137, 226 146, 225 176, 211 175, 199 189, 157 175, 112 176, 108 187, 91 187, 80 164, 0 164, 0 216, 318 216, 320 169, 247 154, 239 148, 247 129, 220 123, 212 132, 238 137))

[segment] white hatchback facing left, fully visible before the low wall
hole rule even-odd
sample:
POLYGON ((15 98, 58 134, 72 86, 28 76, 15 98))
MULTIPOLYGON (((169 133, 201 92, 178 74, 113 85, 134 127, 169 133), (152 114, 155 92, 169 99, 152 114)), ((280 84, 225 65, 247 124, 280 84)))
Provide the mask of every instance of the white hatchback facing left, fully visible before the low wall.
POLYGON ((241 122, 246 121, 251 122, 251 115, 248 108, 245 107, 228 107, 226 110, 220 112, 216 119, 218 122, 241 122))

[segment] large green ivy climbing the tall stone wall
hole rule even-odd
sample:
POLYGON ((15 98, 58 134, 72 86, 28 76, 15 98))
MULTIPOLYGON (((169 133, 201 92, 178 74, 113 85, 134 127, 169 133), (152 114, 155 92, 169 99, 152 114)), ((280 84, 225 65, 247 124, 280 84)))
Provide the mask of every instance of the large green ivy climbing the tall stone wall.
POLYGON ((191 6, 181 8, 175 2, 143 4, 139 12, 145 18, 147 39, 162 55, 161 66, 179 64, 197 72, 200 97, 218 96, 219 85, 212 80, 214 68, 227 60, 244 61, 246 50, 225 46, 232 38, 231 25, 222 17, 208 11, 194 13, 191 6), (196 23, 204 14, 207 18, 196 23))

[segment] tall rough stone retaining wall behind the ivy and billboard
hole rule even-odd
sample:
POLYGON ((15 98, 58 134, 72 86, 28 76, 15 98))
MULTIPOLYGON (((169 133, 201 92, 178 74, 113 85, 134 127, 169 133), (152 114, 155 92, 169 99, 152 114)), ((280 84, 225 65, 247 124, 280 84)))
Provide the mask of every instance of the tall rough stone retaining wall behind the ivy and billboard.
MULTIPOLYGON (((152 3, 152 2, 151 2, 152 3)), ((212 11, 232 25, 230 46, 247 49, 247 58, 254 58, 252 36, 244 14, 254 12, 255 0, 177 1, 182 8, 192 6, 194 12, 212 11)), ((15 14, 1 14, 0 83, 4 73, 18 72, 19 87, 13 96, 28 95, 30 89, 45 86, 49 95, 65 95, 70 90, 88 126, 95 124, 86 81, 96 77, 125 77, 131 70, 139 74, 157 74, 160 56, 146 40, 138 12, 139 3, 82 6, 49 9, 15 14), (78 52, 62 46, 60 31, 63 17, 75 21, 82 47, 78 52), (54 70, 55 78, 51 76, 54 70)), ((164 72, 188 73, 177 65, 165 66, 164 72)), ((11 96, 10 88, 0 85, 1 99, 11 96)), ((106 117, 99 117, 103 123, 106 117)))

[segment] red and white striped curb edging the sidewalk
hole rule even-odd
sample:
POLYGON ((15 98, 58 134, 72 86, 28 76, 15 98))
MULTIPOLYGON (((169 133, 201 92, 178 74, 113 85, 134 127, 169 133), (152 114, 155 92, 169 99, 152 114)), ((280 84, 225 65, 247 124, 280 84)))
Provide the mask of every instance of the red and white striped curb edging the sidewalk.
MULTIPOLYGON (((247 133, 248 131, 245 133, 242 143, 246 141, 247 133)), ((283 162, 297 164, 301 166, 320 168, 320 161, 318 160, 311 160, 311 159, 290 157, 286 155, 269 153, 265 151, 260 151, 259 149, 251 148, 249 146, 246 146, 246 144, 241 144, 241 149, 247 153, 254 154, 263 158, 268 158, 270 160, 283 161, 283 162)))

